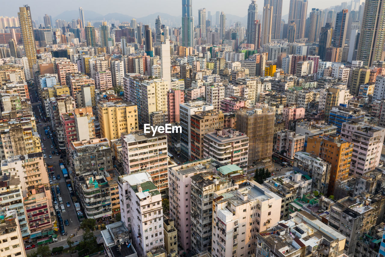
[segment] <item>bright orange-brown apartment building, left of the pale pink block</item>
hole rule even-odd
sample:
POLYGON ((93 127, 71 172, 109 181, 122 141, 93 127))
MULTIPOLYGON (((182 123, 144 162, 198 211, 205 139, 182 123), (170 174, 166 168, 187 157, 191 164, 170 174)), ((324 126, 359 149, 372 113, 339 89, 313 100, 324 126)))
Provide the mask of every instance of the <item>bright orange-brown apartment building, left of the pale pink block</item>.
POLYGON ((306 152, 319 156, 331 164, 328 187, 328 196, 330 196, 334 192, 336 181, 348 178, 353 144, 343 140, 337 134, 316 135, 308 137, 306 152))

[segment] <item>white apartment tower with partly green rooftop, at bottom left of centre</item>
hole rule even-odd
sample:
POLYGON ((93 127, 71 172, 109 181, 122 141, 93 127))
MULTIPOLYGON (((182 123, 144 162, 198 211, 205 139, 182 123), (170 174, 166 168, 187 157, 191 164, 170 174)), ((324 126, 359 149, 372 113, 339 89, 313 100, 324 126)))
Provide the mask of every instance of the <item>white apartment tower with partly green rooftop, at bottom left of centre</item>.
MULTIPOLYGON (((162 197, 148 172, 119 177, 122 221, 139 256, 164 245, 162 197)), ((151 256, 151 255, 150 255, 151 256)))

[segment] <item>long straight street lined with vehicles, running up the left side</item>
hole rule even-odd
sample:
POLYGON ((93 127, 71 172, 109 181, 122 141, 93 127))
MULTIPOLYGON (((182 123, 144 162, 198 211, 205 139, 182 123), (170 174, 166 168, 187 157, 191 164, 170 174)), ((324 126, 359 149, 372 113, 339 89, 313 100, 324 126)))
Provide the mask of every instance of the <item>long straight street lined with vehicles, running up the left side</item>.
MULTIPOLYGON (((34 90, 30 90, 30 96, 32 97, 32 100, 33 100, 33 103, 32 103, 33 112, 37 115, 37 117, 40 118, 39 110, 37 108, 40 103, 37 102, 37 96, 34 93, 34 90)), ((42 115, 44 115, 44 113, 42 115)), ((62 218, 63 218, 63 221, 64 220, 69 221, 69 226, 64 226, 65 231, 67 232, 67 235, 69 237, 70 234, 74 234, 75 232, 77 232, 77 228, 80 226, 80 223, 79 223, 79 220, 77 219, 74 203, 72 203, 72 198, 69 194, 69 191, 67 188, 67 183, 66 183, 65 179, 63 178, 63 174, 62 174, 62 171, 60 169, 60 164, 59 164, 61 162, 60 156, 57 156, 56 154, 52 154, 52 151, 55 150, 55 148, 51 148, 51 145, 53 145, 52 138, 49 139, 49 138, 47 138, 47 135, 45 135, 44 127, 47 127, 47 126, 51 127, 50 122, 47 121, 47 123, 44 123, 44 120, 42 120, 42 118, 40 118, 40 120, 41 120, 41 123, 37 122, 36 125, 37 125, 37 130, 40 134, 41 140, 44 144, 43 149, 45 149, 45 154, 47 155, 47 158, 44 160, 45 160, 47 166, 50 166, 50 165, 53 166, 55 176, 60 174, 60 178, 61 178, 60 180, 53 180, 52 181, 53 184, 51 184, 51 186, 58 184, 60 187, 60 193, 61 193, 60 196, 63 199, 63 204, 65 207, 65 212, 62 213, 62 218), (42 124, 42 126, 40 126, 40 124, 42 124), (49 158, 49 155, 52 156, 52 159, 49 158), (67 205, 65 204, 67 201, 70 202, 70 205, 71 205, 70 207, 67 207, 67 205)), ((52 128, 51 128, 51 131, 52 131, 52 128)), ((56 152, 56 150, 55 150, 55 152, 56 152)), ((59 206, 59 208, 60 208, 60 206, 59 206)), ((60 235, 60 232, 56 232, 56 233, 58 235, 57 238, 59 241, 63 240, 65 242, 67 240, 67 236, 63 237, 60 235)), ((81 237, 81 235, 80 235, 80 237, 81 237)), ((57 243, 59 243, 59 242, 57 242, 57 243)), ((54 244, 55 243, 53 243, 52 245, 54 245, 54 244)))

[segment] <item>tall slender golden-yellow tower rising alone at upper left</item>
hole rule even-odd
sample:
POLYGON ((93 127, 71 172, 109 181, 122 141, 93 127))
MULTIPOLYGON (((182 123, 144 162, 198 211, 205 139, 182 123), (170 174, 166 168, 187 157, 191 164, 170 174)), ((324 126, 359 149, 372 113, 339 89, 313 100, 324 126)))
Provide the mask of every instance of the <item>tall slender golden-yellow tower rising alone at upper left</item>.
POLYGON ((17 13, 19 17, 19 23, 22 30, 23 45, 25 55, 28 59, 28 65, 30 74, 33 76, 32 67, 37 62, 35 37, 33 35, 31 9, 28 5, 24 5, 19 8, 20 12, 17 13))

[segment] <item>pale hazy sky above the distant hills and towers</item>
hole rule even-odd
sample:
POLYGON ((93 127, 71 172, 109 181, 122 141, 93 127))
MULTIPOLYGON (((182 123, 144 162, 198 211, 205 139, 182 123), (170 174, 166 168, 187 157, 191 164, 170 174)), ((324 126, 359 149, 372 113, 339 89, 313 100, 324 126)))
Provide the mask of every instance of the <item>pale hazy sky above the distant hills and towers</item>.
MULTIPOLYGON (((79 7, 102 15, 118 12, 138 18, 163 12, 178 16, 182 12, 181 2, 181 0, 0 0, 0 16, 17 17, 18 7, 25 4, 31 7, 33 19, 44 14, 55 17, 66 10, 77 10, 79 7)), ((310 12, 311 8, 328 8, 331 5, 339 5, 343 0, 308 0, 308 2, 308 12, 310 12)), ((243 17, 247 15, 249 3, 250 0, 192 0, 193 15, 198 15, 198 9, 205 7, 207 11, 211 11, 212 15, 216 11, 224 11, 243 17)), ((257 3, 258 10, 262 10, 263 0, 257 0, 257 3)), ((283 0, 282 15, 287 14, 288 11, 289 0, 283 0)))

